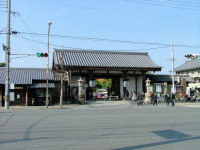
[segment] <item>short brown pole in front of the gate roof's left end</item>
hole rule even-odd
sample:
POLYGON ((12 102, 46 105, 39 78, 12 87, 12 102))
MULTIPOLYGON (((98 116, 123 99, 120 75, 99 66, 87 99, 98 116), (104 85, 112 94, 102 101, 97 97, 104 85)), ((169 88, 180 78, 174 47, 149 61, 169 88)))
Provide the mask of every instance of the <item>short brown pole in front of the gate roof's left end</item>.
POLYGON ((61 56, 61 74, 60 74, 60 108, 63 108, 63 64, 64 64, 64 52, 62 50, 61 56))

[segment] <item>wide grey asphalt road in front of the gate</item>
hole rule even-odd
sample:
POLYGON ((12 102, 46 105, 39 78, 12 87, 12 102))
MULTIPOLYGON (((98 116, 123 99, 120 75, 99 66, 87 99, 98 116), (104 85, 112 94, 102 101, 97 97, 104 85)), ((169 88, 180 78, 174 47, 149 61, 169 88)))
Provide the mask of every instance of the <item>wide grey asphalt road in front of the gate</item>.
POLYGON ((1 150, 199 150, 200 107, 90 105, 0 109, 1 150))

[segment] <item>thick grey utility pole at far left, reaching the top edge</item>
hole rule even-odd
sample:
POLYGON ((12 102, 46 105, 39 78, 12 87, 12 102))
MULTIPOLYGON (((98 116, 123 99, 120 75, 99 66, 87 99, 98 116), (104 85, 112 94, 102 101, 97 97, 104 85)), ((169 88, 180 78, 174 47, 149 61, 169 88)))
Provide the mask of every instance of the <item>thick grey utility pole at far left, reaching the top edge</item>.
POLYGON ((6 77, 5 77, 5 109, 9 109, 9 96, 10 96, 10 86, 9 86, 9 63, 10 63, 10 10, 11 10, 11 0, 7 1, 8 3, 8 17, 7 17, 7 41, 6 41, 6 77))

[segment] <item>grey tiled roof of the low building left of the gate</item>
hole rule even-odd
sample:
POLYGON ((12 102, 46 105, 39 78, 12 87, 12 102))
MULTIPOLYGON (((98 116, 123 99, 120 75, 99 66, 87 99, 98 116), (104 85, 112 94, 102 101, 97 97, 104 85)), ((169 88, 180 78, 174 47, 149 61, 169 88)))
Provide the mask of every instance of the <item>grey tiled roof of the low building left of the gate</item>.
MULTIPOLYGON (((45 68, 10 68, 10 83, 32 84, 32 80, 46 80, 45 68)), ((49 69, 49 80, 54 80, 54 75, 49 69)), ((5 84, 5 68, 0 68, 0 84, 5 84)))

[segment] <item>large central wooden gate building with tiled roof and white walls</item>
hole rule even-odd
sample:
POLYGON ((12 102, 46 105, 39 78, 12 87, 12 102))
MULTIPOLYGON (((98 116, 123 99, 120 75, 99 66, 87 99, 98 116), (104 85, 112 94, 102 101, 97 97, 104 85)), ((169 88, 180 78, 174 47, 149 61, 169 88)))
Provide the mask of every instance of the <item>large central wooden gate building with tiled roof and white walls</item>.
POLYGON ((53 71, 60 73, 62 70, 67 75, 64 83, 67 99, 76 102, 80 77, 86 99, 90 99, 93 92, 90 81, 99 78, 112 79, 112 96, 123 99, 126 90, 144 91, 146 72, 161 71, 161 67, 148 53, 55 49, 53 71))

